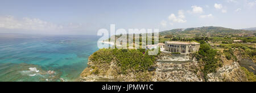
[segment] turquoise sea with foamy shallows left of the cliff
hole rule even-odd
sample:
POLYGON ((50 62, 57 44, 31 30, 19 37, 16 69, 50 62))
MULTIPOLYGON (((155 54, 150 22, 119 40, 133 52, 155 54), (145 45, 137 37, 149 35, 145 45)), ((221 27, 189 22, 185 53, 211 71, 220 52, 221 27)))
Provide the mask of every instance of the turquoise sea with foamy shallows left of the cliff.
POLYGON ((0 35, 0 81, 79 81, 97 36, 0 35))

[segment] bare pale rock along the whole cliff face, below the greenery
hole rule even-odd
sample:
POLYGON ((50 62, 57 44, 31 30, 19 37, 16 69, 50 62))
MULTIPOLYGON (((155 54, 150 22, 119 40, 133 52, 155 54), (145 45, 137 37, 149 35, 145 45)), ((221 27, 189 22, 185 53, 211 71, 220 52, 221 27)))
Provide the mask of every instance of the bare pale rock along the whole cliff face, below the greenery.
MULTIPOLYGON (((110 65, 93 64, 88 61, 88 67, 81 73, 80 81, 170 81, 170 82, 204 82, 204 74, 200 71, 201 64, 188 56, 161 53, 156 60, 154 70, 121 74, 117 63, 110 65)), ((216 73, 208 74, 209 82, 247 81, 245 73, 238 62, 224 64, 216 73)))

